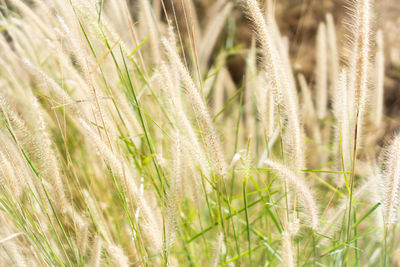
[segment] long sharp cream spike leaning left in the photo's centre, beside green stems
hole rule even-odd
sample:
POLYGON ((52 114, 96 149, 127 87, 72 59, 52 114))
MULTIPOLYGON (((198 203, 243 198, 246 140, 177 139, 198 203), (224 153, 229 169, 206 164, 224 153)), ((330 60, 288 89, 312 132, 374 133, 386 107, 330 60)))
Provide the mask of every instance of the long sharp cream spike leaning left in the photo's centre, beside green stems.
POLYGON ((216 174, 224 176, 226 170, 226 162, 222 153, 222 146, 211 121, 208 108, 204 103, 200 91, 190 77, 190 74, 185 65, 180 60, 177 52, 172 49, 170 42, 167 39, 162 39, 161 42, 163 43, 167 51, 167 56, 169 60, 172 64, 175 64, 177 66, 182 83, 185 86, 186 92, 190 98, 190 102, 192 104, 196 119, 202 128, 207 147, 211 151, 216 174))

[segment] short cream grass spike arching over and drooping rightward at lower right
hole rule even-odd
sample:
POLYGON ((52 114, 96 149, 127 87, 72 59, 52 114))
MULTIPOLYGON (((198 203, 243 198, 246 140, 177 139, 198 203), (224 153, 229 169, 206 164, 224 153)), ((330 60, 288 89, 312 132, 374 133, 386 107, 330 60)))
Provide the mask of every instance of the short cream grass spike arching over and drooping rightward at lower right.
POLYGON ((309 216, 311 228, 316 230, 319 222, 318 208, 310 189, 303 180, 303 177, 297 175, 295 172, 289 170, 286 166, 278 162, 267 159, 264 163, 272 169, 277 170, 280 177, 285 179, 288 185, 295 190, 296 194, 303 201, 305 213, 309 216))

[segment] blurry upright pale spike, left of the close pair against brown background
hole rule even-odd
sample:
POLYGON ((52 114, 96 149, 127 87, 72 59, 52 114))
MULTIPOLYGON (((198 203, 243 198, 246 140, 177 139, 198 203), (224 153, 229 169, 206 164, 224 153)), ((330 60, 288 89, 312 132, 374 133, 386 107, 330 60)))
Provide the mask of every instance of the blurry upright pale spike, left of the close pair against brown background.
POLYGON ((319 119, 326 117, 328 108, 328 56, 325 23, 320 23, 317 33, 316 103, 319 119))

